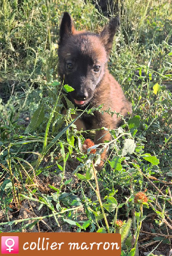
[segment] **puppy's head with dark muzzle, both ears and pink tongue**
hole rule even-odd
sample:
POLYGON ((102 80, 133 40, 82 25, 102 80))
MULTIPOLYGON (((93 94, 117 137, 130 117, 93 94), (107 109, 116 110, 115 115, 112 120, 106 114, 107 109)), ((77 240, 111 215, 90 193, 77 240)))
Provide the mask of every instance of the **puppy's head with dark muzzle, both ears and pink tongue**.
POLYGON ((117 31, 118 19, 111 19, 103 31, 76 31, 68 12, 62 17, 59 42, 59 74, 75 90, 69 93, 76 106, 85 106, 94 96, 104 76, 106 63, 117 31))

